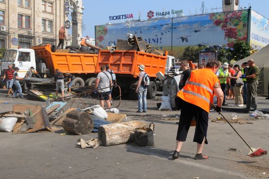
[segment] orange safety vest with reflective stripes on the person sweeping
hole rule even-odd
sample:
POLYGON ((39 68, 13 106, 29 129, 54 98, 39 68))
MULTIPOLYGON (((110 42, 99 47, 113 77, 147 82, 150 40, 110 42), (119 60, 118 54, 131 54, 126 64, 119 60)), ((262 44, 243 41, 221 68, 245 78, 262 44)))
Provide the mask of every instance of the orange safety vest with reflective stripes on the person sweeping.
POLYGON ((211 69, 194 70, 185 86, 177 94, 185 102, 201 107, 209 113, 210 103, 213 104, 213 86, 219 82, 211 69))

